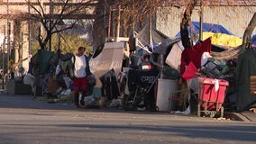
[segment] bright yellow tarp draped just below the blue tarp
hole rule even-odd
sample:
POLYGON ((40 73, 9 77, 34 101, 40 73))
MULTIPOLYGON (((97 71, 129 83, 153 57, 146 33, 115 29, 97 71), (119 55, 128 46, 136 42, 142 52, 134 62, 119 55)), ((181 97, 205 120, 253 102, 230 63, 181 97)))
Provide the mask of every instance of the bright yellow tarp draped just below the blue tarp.
POLYGON ((203 40, 212 37, 212 44, 227 47, 238 47, 242 45, 242 39, 233 35, 214 32, 203 32, 203 40))

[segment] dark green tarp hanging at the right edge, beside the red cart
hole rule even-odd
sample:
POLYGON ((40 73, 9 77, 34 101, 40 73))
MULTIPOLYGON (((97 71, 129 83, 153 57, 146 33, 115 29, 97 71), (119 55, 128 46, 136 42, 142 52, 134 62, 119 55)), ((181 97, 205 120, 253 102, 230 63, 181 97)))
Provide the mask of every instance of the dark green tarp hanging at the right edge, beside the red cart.
POLYGON ((256 103, 256 94, 250 93, 250 76, 256 76, 256 51, 246 49, 238 56, 237 65, 237 110, 249 109, 256 103))

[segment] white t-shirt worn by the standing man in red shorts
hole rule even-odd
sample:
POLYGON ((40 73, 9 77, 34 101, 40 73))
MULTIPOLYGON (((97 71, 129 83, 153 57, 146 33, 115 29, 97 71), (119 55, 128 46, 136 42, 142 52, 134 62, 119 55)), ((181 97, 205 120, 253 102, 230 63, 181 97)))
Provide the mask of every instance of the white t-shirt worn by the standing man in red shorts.
POLYGON ((77 56, 75 55, 75 71, 74 71, 74 76, 81 78, 81 77, 85 77, 87 76, 87 71, 86 71, 86 67, 87 67, 87 59, 86 57, 83 56, 77 56))

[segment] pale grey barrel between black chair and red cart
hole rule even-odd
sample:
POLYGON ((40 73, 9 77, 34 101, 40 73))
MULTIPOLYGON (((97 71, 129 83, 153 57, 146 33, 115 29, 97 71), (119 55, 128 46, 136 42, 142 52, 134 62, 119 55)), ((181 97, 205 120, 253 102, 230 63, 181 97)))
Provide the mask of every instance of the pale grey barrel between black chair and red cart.
POLYGON ((160 112, 169 111, 169 94, 177 91, 178 81, 170 79, 158 79, 158 92, 156 105, 160 112))

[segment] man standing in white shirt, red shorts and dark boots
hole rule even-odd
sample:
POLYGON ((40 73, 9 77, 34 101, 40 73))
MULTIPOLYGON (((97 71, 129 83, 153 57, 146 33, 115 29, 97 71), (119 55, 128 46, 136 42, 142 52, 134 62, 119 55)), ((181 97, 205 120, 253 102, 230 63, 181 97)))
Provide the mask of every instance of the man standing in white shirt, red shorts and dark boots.
POLYGON ((85 106, 85 97, 87 96, 87 76, 91 75, 89 67, 89 58, 84 55, 86 48, 79 47, 78 53, 72 58, 73 62, 73 74, 70 75, 73 79, 73 91, 75 93, 74 103, 79 107, 85 106), (79 93, 82 96, 79 101, 79 93))

